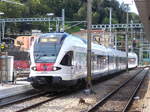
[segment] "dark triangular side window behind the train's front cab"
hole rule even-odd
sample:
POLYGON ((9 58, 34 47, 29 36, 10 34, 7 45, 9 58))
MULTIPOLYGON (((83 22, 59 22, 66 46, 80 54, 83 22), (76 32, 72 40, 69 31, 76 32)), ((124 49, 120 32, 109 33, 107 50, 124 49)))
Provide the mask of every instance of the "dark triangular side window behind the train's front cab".
POLYGON ((73 51, 69 51, 65 54, 60 64, 65 66, 72 66, 72 59, 73 59, 73 51))

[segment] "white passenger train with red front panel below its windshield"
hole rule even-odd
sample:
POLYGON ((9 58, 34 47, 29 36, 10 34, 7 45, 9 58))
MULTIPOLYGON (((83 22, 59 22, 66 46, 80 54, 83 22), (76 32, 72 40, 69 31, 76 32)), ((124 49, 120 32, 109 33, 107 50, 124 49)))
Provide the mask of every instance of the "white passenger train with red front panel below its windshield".
MULTIPOLYGON (((41 34, 30 51, 30 81, 37 89, 59 89, 85 80, 87 41, 67 33, 41 34)), ((92 43, 92 77, 126 69, 126 53, 92 43)), ((128 67, 138 65, 135 53, 128 54, 128 67)))

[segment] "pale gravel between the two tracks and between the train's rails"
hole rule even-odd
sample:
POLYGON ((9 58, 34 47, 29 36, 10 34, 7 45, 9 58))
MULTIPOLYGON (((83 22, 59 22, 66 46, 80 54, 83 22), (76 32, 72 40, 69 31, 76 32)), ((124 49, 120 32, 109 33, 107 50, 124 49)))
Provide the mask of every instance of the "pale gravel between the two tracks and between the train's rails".
MULTIPOLYGON (((101 99, 108 92, 112 91, 114 88, 120 85, 120 83, 127 80, 133 75, 137 70, 132 70, 128 73, 123 73, 117 77, 110 80, 106 80, 97 85, 94 85, 93 89, 96 94, 86 95, 83 91, 77 92, 72 95, 61 97, 54 101, 47 102, 37 108, 29 110, 28 112, 82 112, 90 108, 97 100, 101 99), (83 99, 83 100, 81 100, 83 99)), ((46 97, 45 97, 46 98, 46 97)), ((44 98, 44 99, 45 99, 44 98)), ((39 99, 37 99, 39 101, 39 99)), ((41 98, 43 100, 43 97, 41 98)), ((24 106, 34 104, 36 100, 26 101, 18 105, 12 105, 6 108, 0 109, 0 112, 14 112, 19 110, 24 106), (15 109, 15 110, 14 110, 15 109)))

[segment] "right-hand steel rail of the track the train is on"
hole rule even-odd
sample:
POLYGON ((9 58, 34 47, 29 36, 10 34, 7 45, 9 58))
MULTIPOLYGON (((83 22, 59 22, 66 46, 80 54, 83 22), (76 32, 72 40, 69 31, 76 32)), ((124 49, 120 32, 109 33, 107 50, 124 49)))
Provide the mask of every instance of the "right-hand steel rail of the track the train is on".
POLYGON ((29 110, 29 109, 38 107, 38 106, 40 106, 40 105, 42 105, 42 104, 44 104, 44 103, 47 103, 47 102, 49 102, 49 101, 55 100, 55 99, 60 98, 60 97, 62 97, 62 95, 58 95, 58 96, 56 95, 56 96, 51 97, 51 98, 49 98, 49 99, 47 99, 47 100, 44 100, 44 101, 35 103, 35 104, 33 104, 33 105, 31 105, 31 106, 28 106, 28 107, 25 107, 25 108, 23 108, 23 109, 17 110, 16 112, 23 112, 23 111, 26 112, 26 111, 29 110))

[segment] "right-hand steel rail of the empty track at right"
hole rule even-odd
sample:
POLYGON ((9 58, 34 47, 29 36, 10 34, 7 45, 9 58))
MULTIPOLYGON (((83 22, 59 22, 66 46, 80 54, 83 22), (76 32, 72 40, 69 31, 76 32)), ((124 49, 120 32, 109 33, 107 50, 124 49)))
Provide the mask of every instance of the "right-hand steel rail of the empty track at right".
POLYGON ((147 71, 147 72, 143 75, 141 81, 139 82, 139 84, 138 84, 137 87, 135 88, 133 94, 131 95, 130 99, 128 100, 128 103, 126 104, 126 106, 124 107, 124 109, 122 110, 122 112, 126 112, 126 111, 128 110, 128 108, 129 108, 131 102, 133 101, 133 98, 134 98, 135 94, 136 94, 136 93, 138 92, 138 90, 140 89, 140 86, 142 85, 142 82, 144 81, 144 79, 145 79, 145 77, 146 77, 146 75, 147 75, 148 73, 149 73, 149 71, 147 71))

